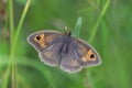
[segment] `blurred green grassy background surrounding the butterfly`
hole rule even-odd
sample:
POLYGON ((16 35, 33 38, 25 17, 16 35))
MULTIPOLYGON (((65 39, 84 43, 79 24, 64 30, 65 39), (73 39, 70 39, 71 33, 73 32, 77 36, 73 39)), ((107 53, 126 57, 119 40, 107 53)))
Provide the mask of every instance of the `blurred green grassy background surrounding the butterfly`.
MULTIPOLYGON (((25 4, 26 0, 13 0, 14 33, 25 4)), ((10 2, 1 0, 0 88, 12 84, 18 88, 132 88, 131 9, 132 0, 31 0, 14 46, 12 73, 10 2), (26 36, 40 30, 63 31, 65 25, 74 29, 78 16, 82 18, 79 37, 99 52, 102 64, 77 74, 43 64, 26 36)))

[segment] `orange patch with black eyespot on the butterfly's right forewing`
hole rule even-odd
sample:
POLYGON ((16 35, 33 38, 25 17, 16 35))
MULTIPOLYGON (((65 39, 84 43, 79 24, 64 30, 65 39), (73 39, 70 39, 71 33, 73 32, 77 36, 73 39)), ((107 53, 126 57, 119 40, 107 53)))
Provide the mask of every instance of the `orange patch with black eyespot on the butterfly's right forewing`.
POLYGON ((81 61, 82 62, 88 62, 88 61, 96 61, 96 54, 91 51, 91 50, 89 50, 87 53, 86 53, 86 55, 85 56, 82 56, 82 58, 81 58, 81 61))

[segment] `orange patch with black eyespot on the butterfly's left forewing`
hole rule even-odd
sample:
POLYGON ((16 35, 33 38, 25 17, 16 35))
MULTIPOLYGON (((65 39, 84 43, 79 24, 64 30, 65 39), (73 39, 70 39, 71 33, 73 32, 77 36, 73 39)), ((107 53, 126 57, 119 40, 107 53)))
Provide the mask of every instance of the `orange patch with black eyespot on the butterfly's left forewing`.
POLYGON ((36 35, 34 41, 40 44, 41 47, 45 46, 44 34, 36 35))

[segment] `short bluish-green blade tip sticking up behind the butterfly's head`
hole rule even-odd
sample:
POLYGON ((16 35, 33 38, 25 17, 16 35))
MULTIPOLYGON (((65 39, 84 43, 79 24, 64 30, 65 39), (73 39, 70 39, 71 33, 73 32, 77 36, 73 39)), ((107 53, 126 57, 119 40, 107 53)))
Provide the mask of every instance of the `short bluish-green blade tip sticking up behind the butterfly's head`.
POLYGON ((79 18, 77 19, 75 29, 74 29, 73 32, 72 32, 72 33, 73 33, 73 36, 79 37, 79 31, 80 31, 81 23, 82 23, 82 19, 81 19, 81 16, 79 16, 79 18))

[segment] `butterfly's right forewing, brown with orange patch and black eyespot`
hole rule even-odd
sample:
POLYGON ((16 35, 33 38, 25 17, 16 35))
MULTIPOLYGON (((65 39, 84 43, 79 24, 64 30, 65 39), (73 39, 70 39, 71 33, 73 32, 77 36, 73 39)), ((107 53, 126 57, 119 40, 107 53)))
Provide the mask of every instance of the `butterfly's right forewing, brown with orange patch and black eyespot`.
POLYGON ((97 51, 82 40, 74 38, 74 42, 77 44, 76 52, 79 58, 81 66, 97 66, 101 64, 101 58, 97 51))

